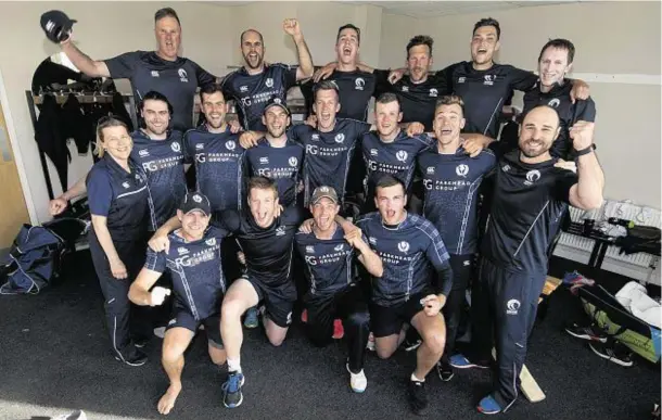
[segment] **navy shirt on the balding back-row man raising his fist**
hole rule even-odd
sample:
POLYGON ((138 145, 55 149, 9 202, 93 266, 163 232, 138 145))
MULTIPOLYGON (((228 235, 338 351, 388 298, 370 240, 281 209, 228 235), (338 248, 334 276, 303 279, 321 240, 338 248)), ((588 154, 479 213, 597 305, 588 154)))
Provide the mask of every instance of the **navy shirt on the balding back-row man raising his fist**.
POLYGON ((265 65, 262 73, 250 75, 241 67, 221 81, 222 94, 233 100, 241 126, 245 130, 266 131, 262 122, 267 101, 272 97, 287 100, 288 90, 296 85, 296 67, 285 64, 265 65))

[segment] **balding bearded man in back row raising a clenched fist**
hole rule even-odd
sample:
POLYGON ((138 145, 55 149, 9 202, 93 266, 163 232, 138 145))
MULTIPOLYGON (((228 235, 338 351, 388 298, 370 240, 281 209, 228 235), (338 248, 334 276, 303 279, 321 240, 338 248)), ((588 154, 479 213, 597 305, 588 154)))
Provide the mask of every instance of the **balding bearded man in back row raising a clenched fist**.
POLYGON ((262 116, 267 102, 276 97, 285 103, 288 90, 296 85, 297 80, 313 76, 313 59, 298 22, 295 18, 287 18, 283 29, 296 46, 297 68, 279 63, 265 64, 263 36, 255 29, 247 29, 241 34, 244 65, 225 76, 221 81, 225 97, 235 102, 239 120, 246 130, 265 131, 262 116))

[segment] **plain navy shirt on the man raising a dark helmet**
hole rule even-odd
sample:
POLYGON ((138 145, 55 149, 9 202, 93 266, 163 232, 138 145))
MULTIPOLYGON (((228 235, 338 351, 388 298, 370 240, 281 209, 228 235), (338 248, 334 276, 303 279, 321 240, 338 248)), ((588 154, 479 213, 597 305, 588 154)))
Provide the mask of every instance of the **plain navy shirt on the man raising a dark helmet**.
POLYGON ((182 131, 193 127, 195 90, 216 80, 189 59, 167 61, 154 51, 127 52, 103 62, 112 78, 131 81, 137 103, 150 90, 165 94, 173 104, 173 126, 182 131))

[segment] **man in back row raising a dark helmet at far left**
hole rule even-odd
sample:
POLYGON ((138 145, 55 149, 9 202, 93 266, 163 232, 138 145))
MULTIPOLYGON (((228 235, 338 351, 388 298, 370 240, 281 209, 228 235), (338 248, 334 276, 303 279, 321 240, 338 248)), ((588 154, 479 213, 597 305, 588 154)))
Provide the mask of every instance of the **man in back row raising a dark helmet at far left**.
POLYGON ((72 63, 90 77, 128 78, 137 102, 151 90, 165 94, 173 104, 173 126, 186 130, 193 126, 195 90, 216 78, 193 61, 178 55, 181 26, 175 10, 156 11, 154 26, 156 51, 133 51, 94 61, 78 50, 71 36, 61 47, 72 63))

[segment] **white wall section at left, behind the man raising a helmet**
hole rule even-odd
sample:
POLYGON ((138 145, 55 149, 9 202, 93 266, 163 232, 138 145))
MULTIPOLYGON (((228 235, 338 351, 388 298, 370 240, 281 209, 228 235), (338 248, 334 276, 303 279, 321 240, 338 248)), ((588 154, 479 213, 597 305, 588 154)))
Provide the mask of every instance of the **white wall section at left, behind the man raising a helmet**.
MULTIPOLYGON (((30 88, 37 65, 59 51, 59 47, 48 41, 39 27, 41 13, 55 7, 65 11, 69 17, 78 21, 74 27, 78 47, 93 59, 106 59, 126 51, 153 50, 154 12, 167 5, 177 10, 182 23, 183 55, 208 72, 225 74, 231 62, 230 43, 225 29, 230 22, 227 8, 165 2, 0 3, 0 27, 8 34, 0 50, 0 71, 16 131, 14 140, 17 148, 14 147, 14 152, 21 153, 23 157, 28 190, 40 221, 50 218, 48 192, 24 92, 30 88)), ((69 167, 72 175, 78 176, 89 168, 89 155, 87 158, 75 155, 74 160, 69 167)), ((76 180, 75 177, 69 177, 69 184, 76 180)), ((54 193, 59 194, 60 183, 54 170, 51 170, 51 181, 54 193)))

